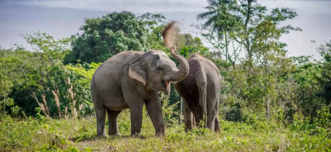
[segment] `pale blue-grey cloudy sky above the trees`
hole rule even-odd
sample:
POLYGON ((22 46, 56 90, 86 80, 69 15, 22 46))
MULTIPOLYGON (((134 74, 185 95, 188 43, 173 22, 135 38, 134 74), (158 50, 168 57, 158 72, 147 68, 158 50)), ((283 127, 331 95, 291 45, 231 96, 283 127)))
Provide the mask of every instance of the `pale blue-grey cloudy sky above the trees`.
MULTIPOLYGON (((315 40, 318 45, 330 41, 331 0, 258 0, 258 3, 268 10, 294 8, 299 17, 282 25, 301 27, 303 31, 292 31, 281 37, 281 41, 288 44, 288 55, 313 55, 320 59, 316 44, 310 41, 315 40)), ((28 47, 20 34, 38 30, 56 39, 70 37, 79 32, 84 18, 123 10, 135 15, 161 13, 168 20, 180 22, 181 32, 189 33, 198 31, 190 25, 203 22, 198 22, 196 15, 206 12, 206 6, 206 0, 0 0, 0 45, 9 48, 18 43, 28 47)))

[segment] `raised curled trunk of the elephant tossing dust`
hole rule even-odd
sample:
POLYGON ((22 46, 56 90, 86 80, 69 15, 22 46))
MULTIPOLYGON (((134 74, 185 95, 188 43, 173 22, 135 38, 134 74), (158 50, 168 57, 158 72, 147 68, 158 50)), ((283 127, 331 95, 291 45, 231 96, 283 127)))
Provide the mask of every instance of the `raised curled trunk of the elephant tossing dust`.
POLYGON ((177 53, 175 45, 172 46, 170 53, 171 56, 180 63, 179 66, 177 67, 178 71, 176 71, 174 75, 171 76, 170 81, 178 82, 185 79, 185 77, 188 75, 189 65, 186 59, 183 56, 181 56, 179 53, 177 53))

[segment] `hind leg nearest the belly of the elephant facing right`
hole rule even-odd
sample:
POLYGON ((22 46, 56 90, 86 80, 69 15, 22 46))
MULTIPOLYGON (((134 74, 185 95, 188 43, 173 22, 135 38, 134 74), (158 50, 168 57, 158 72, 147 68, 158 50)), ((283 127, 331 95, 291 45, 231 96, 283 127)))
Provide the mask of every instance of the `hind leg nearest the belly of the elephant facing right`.
POLYGON ((108 134, 109 135, 121 135, 119 133, 119 129, 118 129, 118 123, 117 123, 117 117, 118 114, 121 112, 122 110, 119 111, 112 111, 107 109, 107 114, 108 114, 108 134))

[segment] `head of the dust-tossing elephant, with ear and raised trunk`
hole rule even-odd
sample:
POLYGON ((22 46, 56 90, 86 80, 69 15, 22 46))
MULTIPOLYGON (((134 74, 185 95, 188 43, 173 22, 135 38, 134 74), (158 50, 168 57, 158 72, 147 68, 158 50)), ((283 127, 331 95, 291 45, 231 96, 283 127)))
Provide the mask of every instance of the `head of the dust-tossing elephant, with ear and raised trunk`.
POLYGON ((175 46, 170 53, 180 62, 178 68, 164 51, 149 50, 131 62, 129 76, 148 85, 152 90, 165 91, 169 95, 170 82, 183 80, 189 71, 186 59, 176 52, 175 46))

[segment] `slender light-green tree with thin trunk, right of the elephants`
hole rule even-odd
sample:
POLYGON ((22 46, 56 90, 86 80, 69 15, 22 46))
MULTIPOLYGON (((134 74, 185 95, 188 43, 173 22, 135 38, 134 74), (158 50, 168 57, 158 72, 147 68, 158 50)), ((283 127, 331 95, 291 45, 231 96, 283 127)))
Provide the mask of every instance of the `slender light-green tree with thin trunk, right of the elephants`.
POLYGON ((261 98, 264 99, 265 115, 269 120, 270 101, 274 101, 277 96, 275 81, 277 81, 279 73, 284 72, 282 67, 287 66, 289 60, 286 62, 287 51, 284 50, 285 45, 279 42, 281 32, 274 23, 265 20, 256 29, 256 43, 252 45, 252 48, 256 49, 257 66, 261 67, 261 70, 263 69, 261 87, 264 95, 261 98))

